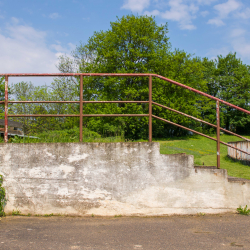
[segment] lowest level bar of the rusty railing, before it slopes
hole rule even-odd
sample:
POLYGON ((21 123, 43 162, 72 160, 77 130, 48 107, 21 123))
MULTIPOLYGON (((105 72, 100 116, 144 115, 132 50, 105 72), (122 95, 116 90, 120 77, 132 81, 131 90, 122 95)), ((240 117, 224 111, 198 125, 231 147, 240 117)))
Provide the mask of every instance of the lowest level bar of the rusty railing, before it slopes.
MULTIPOLYGON (((110 117, 110 116, 148 116, 148 114, 90 114, 82 115, 83 117, 110 117)), ((46 115, 12 115, 8 114, 8 117, 80 117, 80 115, 71 115, 71 114, 46 114, 46 115)))

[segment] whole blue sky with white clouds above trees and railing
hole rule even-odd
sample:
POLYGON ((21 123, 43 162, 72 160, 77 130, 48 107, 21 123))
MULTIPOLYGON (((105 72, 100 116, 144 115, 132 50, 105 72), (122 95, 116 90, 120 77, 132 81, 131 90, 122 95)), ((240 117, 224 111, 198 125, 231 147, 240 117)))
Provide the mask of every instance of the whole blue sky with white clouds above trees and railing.
POLYGON ((0 0, 0 72, 58 72, 59 55, 131 13, 168 22, 172 48, 208 58, 237 52, 250 64, 249 0, 0 0))

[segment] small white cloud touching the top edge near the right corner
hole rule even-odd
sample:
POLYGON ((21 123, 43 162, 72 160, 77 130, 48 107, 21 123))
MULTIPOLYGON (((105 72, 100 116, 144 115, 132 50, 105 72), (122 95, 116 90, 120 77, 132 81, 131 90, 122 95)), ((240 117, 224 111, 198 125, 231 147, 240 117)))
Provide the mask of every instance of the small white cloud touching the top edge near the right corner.
POLYGON ((227 18, 230 13, 239 10, 241 6, 242 4, 236 0, 228 0, 226 3, 217 4, 214 6, 217 17, 209 19, 207 23, 222 26, 225 24, 222 20, 227 18))

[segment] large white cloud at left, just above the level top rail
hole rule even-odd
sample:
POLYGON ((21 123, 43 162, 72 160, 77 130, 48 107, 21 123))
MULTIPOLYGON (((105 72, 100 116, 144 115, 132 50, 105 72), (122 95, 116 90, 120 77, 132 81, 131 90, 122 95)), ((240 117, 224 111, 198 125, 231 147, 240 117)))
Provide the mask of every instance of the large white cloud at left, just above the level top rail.
POLYGON ((18 19, 12 18, 12 22, 0 30, 1 73, 58 72, 55 66, 58 56, 68 53, 73 45, 69 44, 69 49, 60 44, 49 46, 46 36, 46 32, 20 24, 18 19))

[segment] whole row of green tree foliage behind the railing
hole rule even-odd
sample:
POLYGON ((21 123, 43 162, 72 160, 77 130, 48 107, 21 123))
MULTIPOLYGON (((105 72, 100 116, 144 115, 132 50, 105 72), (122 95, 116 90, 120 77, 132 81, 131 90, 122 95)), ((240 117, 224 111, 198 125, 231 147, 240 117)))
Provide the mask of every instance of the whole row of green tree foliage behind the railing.
MULTIPOLYGON (((71 57, 61 56, 58 69, 62 73, 155 73, 187 86, 207 92, 212 96, 249 109, 249 66, 244 65, 236 54, 218 56, 217 59, 199 58, 182 50, 172 50, 167 24, 158 26, 153 17, 127 15, 110 23, 107 31, 95 32, 86 44, 80 44, 71 57)), ((147 101, 148 78, 146 77, 84 77, 83 99, 86 101, 147 101)), ((34 87, 30 83, 13 86, 18 100, 79 100, 79 78, 56 78, 51 88, 34 87)), ((163 80, 153 78, 153 101, 216 123, 215 102, 163 80)), ((44 105, 17 104, 11 112, 26 113, 79 113, 77 104, 44 105)), ((85 114, 147 114, 148 104, 84 104, 85 114)), ((213 128, 187 117, 153 106, 153 113, 203 132, 213 128)), ((71 128, 79 119, 51 118, 42 125, 39 119, 25 120, 27 131, 35 129, 71 128), (35 125, 38 124, 38 125, 35 125), (40 125, 39 125, 40 124, 40 125)), ((222 106, 221 126, 229 130, 250 133, 249 118, 229 107, 222 106)), ((86 128, 100 134, 125 133, 125 137, 148 137, 147 117, 85 118, 86 128)), ((185 135, 187 132, 153 119, 153 136, 185 135)))

